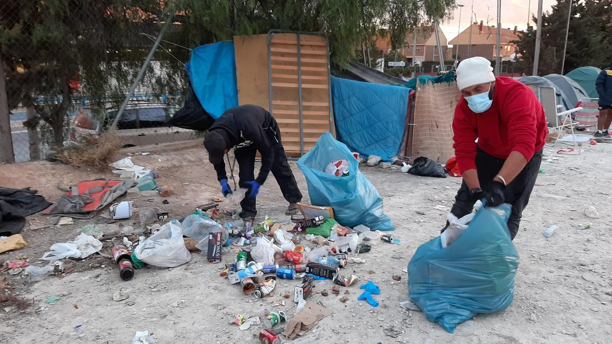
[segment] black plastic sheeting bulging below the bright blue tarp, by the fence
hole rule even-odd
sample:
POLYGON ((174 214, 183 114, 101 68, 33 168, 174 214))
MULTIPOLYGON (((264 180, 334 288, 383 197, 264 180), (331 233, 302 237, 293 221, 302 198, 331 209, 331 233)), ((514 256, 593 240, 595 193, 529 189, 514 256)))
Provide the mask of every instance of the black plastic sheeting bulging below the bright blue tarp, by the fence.
POLYGON ((215 119, 204 110, 190 85, 185 97, 185 104, 166 122, 166 125, 168 127, 206 131, 214 122, 215 119))

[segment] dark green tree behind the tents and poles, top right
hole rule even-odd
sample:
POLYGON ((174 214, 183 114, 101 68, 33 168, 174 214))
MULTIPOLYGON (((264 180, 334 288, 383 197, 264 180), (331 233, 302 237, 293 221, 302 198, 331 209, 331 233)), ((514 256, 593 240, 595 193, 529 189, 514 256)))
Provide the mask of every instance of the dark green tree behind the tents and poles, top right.
MULTIPOLYGON (((539 75, 561 73, 569 0, 558 0, 551 12, 542 15, 539 75)), ((567 36, 564 73, 584 65, 602 67, 610 59, 612 43, 611 0, 574 1, 567 36)), ((537 18, 534 17, 534 21, 537 18)), ((517 62, 519 72, 531 75, 534 61, 535 34, 533 28, 519 34, 517 62)))

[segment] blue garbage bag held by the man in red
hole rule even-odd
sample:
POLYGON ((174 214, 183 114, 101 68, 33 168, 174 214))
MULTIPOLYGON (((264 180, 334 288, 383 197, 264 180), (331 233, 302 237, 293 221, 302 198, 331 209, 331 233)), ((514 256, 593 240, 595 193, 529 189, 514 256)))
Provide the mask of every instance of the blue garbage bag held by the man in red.
POLYGON ((427 320, 452 333, 477 313, 512 304, 519 257, 509 216, 510 204, 483 207, 446 248, 439 236, 419 246, 408 263, 408 296, 427 320))

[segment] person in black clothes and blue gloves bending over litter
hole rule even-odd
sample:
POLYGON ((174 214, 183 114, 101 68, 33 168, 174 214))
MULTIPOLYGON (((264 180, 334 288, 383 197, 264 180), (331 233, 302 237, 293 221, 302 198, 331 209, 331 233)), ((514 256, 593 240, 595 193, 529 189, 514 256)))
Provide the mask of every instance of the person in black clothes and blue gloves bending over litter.
POLYGON ((266 109, 257 105, 242 105, 225 111, 206 134, 204 147, 217 171, 217 180, 222 186, 223 196, 232 192, 228 186, 223 154, 234 148, 234 156, 240 168, 238 185, 248 189, 247 195, 240 203, 241 219, 247 222, 253 222, 255 219, 255 197, 270 172, 274 174, 285 200, 289 202, 285 214, 296 214, 302 193, 297 188, 296 179, 287 162, 278 124, 266 109), (257 178, 256 151, 261 154, 261 169, 257 178))

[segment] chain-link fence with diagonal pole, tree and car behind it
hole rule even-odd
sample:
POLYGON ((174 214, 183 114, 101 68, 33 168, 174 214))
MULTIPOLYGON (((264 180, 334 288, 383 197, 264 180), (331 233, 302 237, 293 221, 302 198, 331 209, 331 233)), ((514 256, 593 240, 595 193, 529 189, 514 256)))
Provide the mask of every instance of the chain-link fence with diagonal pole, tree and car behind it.
MULTIPOLYGON (((0 102, 0 120, 12 139, 12 147, 0 140, 4 155, 12 151, 15 162, 44 159, 50 150, 110 129, 168 18, 154 7, 159 2, 151 2, 148 12, 115 3, 0 2, 0 68, 6 81, 0 92, 8 100, 4 108, 0 102)), ((189 50, 167 38, 173 30, 174 23, 118 121, 114 135, 123 146, 197 136, 165 125, 181 108, 188 84, 189 50)))

